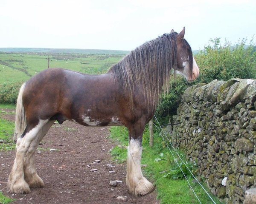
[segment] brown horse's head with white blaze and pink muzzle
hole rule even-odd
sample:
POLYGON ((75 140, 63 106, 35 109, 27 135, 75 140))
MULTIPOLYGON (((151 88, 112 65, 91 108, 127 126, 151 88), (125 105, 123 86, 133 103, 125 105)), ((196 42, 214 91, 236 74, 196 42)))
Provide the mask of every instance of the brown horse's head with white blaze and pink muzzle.
MULTIPOLYGON (((173 30, 171 33, 174 32, 173 30)), ((195 62, 189 43, 184 39, 185 27, 177 34, 177 66, 176 70, 183 74, 190 82, 194 81, 199 75, 199 68, 195 62)))

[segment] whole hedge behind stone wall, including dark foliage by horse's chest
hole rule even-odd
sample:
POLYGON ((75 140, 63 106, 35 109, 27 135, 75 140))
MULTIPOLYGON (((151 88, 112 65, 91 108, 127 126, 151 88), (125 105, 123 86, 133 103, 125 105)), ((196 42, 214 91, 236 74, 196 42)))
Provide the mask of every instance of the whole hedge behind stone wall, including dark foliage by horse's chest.
POLYGON ((168 123, 180 103, 180 98, 186 88, 198 83, 209 83, 214 79, 228 80, 233 77, 241 79, 256 78, 256 47, 251 41, 246 48, 246 40, 243 39, 236 45, 230 42, 220 45, 220 38, 209 40, 212 45, 205 47, 195 55, 195 60, 200 69, 200 75, 195 82, 186 82, 185 79, 177 77, 171 82, 169 94, 163 95, 157 107, 156 116, 161 125, 168 123))

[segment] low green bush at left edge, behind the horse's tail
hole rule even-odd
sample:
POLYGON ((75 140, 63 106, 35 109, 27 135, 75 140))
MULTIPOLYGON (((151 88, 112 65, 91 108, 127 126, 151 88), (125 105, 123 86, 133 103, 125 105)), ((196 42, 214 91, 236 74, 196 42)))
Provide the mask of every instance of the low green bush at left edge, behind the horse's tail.
POLYGON ((0 103, 16 103, 20 87, 24 82, 6 82, 0 85, 0 103))

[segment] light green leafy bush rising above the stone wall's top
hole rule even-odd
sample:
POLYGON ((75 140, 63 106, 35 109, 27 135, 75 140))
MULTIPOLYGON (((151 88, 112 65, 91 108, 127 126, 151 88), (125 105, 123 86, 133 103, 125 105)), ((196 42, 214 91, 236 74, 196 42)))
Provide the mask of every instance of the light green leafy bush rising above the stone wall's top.
POLYGON ((246 39, 234 46, 227 41, 221 46, 220 38, 210 39, 210 42, 212 46, 208 45, 195 56, 201 71, 198 82, 209 83, 214 79, 227 81, 234 77, 256 78, 256 52, 252 42, 247 48, 246 39))

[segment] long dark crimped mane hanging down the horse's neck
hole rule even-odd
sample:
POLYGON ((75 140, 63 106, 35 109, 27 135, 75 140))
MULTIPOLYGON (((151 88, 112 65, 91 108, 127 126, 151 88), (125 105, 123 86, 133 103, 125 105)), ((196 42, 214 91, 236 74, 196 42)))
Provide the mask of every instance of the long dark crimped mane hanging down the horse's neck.
MULTIPOLYGON (((132 96, 135 88, 143 88, 145 103, 156 107, 163 85, 169 90, 171 68, 177 65, 177 33, 163 34, 145 42, 126 55, 108 73, 124 93, 132 96)), ((188 44, 188 43, 187 43, 188 44)))

